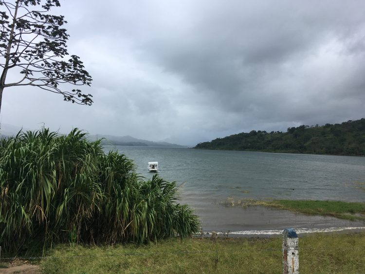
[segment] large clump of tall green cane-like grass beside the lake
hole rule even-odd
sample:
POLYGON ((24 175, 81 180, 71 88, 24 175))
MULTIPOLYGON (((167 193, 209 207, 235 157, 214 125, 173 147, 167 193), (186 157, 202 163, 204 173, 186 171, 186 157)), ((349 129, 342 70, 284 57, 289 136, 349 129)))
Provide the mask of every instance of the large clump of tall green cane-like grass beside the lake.
POLYGON ((77 128, 0 139, 0 246, 9 253, 189 236, 199 220, 176 197, 174 182, 144 180, 125 155, 104 153, 77 128))

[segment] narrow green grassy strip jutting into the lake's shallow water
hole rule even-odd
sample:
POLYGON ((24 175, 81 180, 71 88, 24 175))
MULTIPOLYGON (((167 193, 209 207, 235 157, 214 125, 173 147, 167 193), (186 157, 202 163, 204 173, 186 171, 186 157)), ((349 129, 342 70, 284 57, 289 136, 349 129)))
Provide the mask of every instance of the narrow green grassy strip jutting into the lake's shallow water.
POLYGON ((332 216, 340 219, 364 220, 365 202, 314 201, 314 200, 268 200, 227 198, 220 202, 224 206, 268 206, 310 215, 332 216))

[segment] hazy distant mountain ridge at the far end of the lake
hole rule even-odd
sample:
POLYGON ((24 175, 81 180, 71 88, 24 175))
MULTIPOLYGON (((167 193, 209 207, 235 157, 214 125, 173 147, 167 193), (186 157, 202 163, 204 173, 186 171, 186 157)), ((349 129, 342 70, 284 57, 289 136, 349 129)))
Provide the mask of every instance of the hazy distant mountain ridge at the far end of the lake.
POLYGON ((115 145, 115 146, 164 146, 164 147, 185 147, 177 144, 171 144, 167 142, 152 142, 143 139, 137 139, 132 136, 113 136, 113 135, 89 135, 89 140, 95 141, 97 139, 102 139, 102 144, 105 145, 115 145))

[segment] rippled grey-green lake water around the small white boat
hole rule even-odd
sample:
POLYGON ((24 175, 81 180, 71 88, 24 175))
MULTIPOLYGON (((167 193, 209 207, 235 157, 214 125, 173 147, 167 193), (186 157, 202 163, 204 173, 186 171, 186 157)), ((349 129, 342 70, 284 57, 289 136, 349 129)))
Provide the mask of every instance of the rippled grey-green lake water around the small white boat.
POLYGON ((281 229, 291 223, 321 228, 359 226, 329 217, 266 208, 225 208, 237 199, 311 199, 365 202, 365 157, 198 150, 175 147, 106 146, 135 161, 146 178, 147 163, 159 162, 159 175, 179 185, 207 229, 281 229))

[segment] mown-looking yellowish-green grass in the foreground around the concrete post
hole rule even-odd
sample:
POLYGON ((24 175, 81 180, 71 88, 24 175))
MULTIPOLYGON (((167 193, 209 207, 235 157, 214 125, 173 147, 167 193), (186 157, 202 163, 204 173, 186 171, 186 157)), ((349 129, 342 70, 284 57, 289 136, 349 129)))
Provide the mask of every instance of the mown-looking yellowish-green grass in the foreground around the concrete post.
MULTIPOLYGON (((282 239, 172 238, 147 245, 58 245, 43 273, 281 273, 282 239)), ((299 238, 301 273, 364 273, 365 233, 299 238)))

